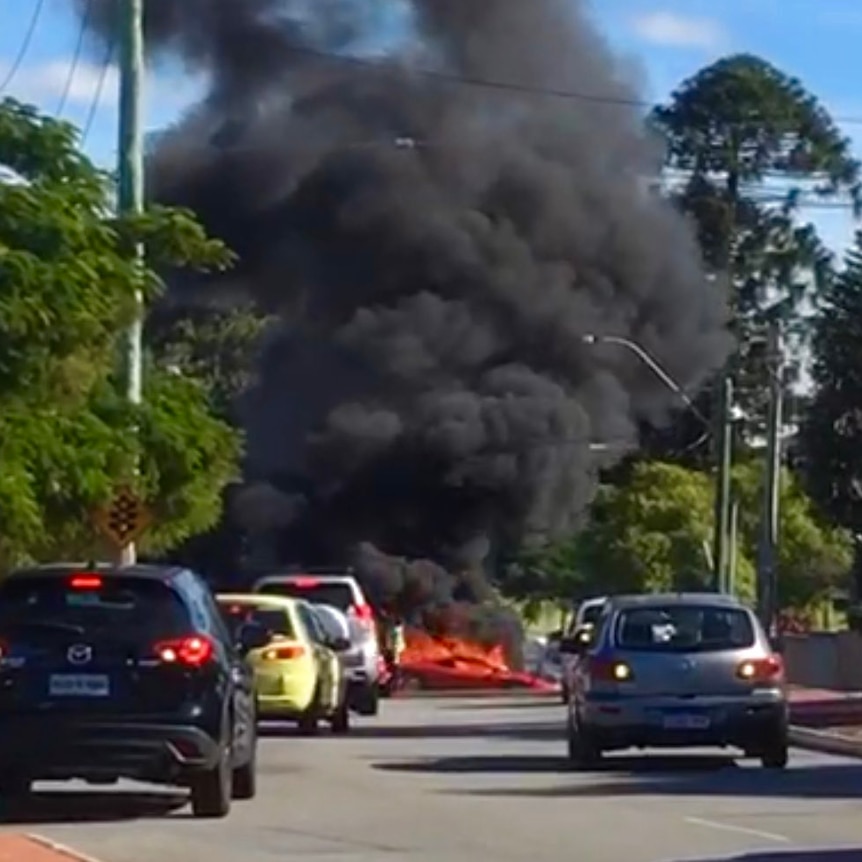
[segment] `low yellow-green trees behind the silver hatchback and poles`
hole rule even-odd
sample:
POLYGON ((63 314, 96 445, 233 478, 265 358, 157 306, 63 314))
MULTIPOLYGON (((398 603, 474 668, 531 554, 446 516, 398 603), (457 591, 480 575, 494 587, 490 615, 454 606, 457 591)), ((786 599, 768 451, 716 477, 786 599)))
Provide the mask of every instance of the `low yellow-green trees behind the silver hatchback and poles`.
MULTIPOLYGON (((749 461, 733 472, 739 503, 736 590, 755 595, 755 560, 762 511, 763 469, 749 461)), ((713 486, 707 473, 679 464, 642 461, 627 480, 605 485, 583 533, 534 554, 545 574, 548 597, 578 592, 652 592, 711 588, 708 548, 712 539, 713 486), (562 594, 553 595, 562 588, 562 594)), ((851 560, 848 535, 816 517, 809 498, 789 472, 782 476, 780 599, 807 607, 839 583, 851 560)))

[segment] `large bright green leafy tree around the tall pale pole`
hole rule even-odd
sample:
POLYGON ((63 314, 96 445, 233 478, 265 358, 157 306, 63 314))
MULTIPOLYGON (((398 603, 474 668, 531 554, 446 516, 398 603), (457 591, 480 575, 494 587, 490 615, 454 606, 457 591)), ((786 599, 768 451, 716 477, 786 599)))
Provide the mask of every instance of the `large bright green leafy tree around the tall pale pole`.
POLYGON ((157 269, 224 268, 229 253, 184 211, 113 215, 111 178, 74 128, 13 100, 0 103, 0 165, 0 569, 95 555, 90 512, 137 462, 156 516, 145 549, 205 528, 236 470, 236 433, 193 378, 149 368, 133 409, 113 369, 134 291, 152 298, 157 269), (128 254, 140 241, 143 273, 128 254))

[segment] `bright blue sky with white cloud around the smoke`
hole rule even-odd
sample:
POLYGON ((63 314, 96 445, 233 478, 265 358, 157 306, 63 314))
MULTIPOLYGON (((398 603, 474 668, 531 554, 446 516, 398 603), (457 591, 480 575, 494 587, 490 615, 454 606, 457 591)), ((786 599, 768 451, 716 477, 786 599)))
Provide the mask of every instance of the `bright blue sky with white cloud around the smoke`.
MULTIPOLYGON (((158 2, 158 0, 157 0, 158 2)), ((6 0, 0 20, 0 87, 15 63, 39 0, 6 0)), ((105 77, 93 111, 100 63, 90 51, 69 75, 78 41, 71 0, 43 0, 23 62, 0 95, 12 95, 84 126, 86 148, 111 165, 116 126, 116 71, 105 77), (71 80, 71 84, 69 81, 71 80)), ((862 155, 862 4, 854 0, 593 0, 600 29, 635 68, 643 70, 644 97, 665 98, 699 67, 722 54, 750 51, 798 76, 845 125, 862 155)), ((163 69, 148 88, 147 124, 170 122, 200 92, 178 70, 163 69)), ((840 210, 810 213, 830 245, 844 247, 852 233, 840 210)))

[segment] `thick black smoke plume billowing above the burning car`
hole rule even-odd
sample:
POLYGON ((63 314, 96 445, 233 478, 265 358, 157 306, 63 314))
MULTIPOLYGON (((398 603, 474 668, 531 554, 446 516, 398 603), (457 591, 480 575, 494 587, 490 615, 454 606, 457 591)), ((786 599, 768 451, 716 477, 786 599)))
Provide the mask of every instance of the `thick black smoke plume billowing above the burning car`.
MULTIPOLYGON (((76 2, 108 37, 118 3, 76 2)), ((397 6, 149 2, 151 56, 210 81, 159 138, 149 188, 241 258, 177 291, 284 321, 245 415, 290 553, 368 541, 458 570, 572 529, 590 443, 619 455, 680 406, 585 334, 633 339, 687 387, 728 345, 687 226, 649 190, 637 93, 581 3, 409 0, 383 59, 334 56, 391 34, 397 6)))

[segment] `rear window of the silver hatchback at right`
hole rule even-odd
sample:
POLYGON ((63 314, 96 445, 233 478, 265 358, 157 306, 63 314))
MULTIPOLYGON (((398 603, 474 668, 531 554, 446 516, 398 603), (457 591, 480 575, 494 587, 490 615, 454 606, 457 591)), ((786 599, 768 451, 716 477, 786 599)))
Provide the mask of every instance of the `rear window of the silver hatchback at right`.
POLYGON ((620 613, 616 645, 646 652, 719 652, 753 646, 749 614, 710 605, 651 605, 620 613))

